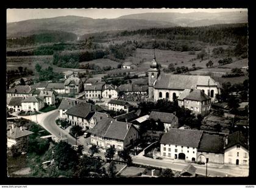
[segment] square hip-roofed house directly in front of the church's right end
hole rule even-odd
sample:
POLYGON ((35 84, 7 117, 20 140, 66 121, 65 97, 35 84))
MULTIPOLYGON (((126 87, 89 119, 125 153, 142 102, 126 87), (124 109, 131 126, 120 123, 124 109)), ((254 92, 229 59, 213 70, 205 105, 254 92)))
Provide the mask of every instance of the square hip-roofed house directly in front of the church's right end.
POLYGON ((190 92, 185 89, 177 100, 180 107, 188 108, 191 113, 205 116, 210 111, 211 98, 200 89, 190 89, 190 92))

